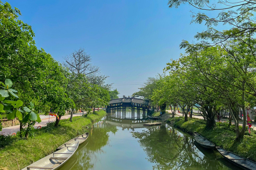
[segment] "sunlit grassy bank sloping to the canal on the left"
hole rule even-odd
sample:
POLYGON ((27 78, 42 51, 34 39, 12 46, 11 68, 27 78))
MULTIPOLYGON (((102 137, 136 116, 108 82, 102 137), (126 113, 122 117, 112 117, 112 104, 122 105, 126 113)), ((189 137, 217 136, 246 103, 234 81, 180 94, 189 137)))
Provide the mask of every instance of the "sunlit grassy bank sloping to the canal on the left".
POLYGON ((56 148, 64 142, 82 134, 86 126, 101 119, 106 112, 101 110, 87 117, 73 117, 73 122, 61 120, 59 127, 47 127, 36 130, 35 136, 29 139, 15 140, 11 145, 0 150, 0 169, 17 170, 17 158, 19 168, 22 169, 31 163, 56 151, 56 148))

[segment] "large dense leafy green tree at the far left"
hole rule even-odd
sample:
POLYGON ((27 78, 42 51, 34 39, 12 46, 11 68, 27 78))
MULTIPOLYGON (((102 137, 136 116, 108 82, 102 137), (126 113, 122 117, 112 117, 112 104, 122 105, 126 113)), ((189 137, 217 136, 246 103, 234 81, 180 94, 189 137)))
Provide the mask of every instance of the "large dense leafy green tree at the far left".
POLYGON ((25 105, 36 103, 36 112, 54 106, 65 113, 63 109, 69 103, 65 70, 50 54, 37 49, 31 26, 18 19, 21 13, 17 8, 2 2, 0 8, 0 81, 11 79, 25 105))

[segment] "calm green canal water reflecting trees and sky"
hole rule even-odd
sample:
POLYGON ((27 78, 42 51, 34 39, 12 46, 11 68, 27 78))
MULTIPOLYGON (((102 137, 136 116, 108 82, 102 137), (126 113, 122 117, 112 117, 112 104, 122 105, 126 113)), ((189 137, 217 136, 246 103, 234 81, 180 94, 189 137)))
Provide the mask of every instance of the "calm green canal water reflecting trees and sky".
POLYGON ((135 120, 127 113, 125 117, 107 115, 89 128, 87 141, 60 170, 235 169, 219 153, 197 146, 176 128, 145 128, 143 123, 152 120, 142 114, 135 120))

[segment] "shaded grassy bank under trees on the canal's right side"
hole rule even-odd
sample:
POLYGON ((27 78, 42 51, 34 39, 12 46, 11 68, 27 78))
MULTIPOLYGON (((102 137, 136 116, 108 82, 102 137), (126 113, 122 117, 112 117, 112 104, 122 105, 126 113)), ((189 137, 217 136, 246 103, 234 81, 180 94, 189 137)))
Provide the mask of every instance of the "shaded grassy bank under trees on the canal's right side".
POLYGON ((235 126, 228 126, 228 123, 216 123, 213 129, 206 129, 204 120, 192 118, 184 122, 184 117, 174 117, 167 120, 173 126, 178 127, 188 133, 197 131, 202 136, 211 140, 216 146, 221 146, 231 152, 241 155, 245 158, 256 161, 256 131, 251 130, 245 132, 244 138, 241 142, 235 142, 236 133, 235 126))

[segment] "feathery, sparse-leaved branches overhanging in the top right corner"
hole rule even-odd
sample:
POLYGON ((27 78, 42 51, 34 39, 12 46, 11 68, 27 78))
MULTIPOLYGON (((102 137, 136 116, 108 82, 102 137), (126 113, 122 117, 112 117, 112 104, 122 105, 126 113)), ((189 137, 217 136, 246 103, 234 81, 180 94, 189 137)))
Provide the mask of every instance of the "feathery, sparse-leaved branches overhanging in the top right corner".
POLYGON ((181 4, 188 3, 195 9, 198 9, 198 13, 192 12, 192 21, 201 24, 205 22, 208 27, 206 31, 197 33, 195 38, 203 40, 201 44, 211 46, 218 43, 225 42, 229 39, 239 38, 243 36, 254 35, 255 28, 255 1, 222 1, 218 0, 217 4, 210 3, 205 0, 169 0, 168 5, 170 8, 178 8, 181 4), (203 13, 201 11, 206 11, 203 13), (218 14, 215 11, 220 11, 218 14), (216 17, 209 17, 210 14, 216 15, 216 17), (230 30, 218 31, 213 28, 221 23, 223 25, 229 25, 230 30), (211 42, 206 42, 211 41, 211 42))

